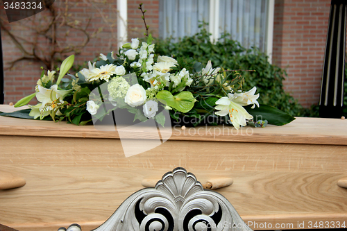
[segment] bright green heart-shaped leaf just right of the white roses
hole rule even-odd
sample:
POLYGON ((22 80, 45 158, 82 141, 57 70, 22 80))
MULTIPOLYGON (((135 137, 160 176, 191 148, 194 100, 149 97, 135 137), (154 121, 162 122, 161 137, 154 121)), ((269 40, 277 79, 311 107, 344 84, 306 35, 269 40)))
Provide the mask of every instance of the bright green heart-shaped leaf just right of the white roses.
POLYGON ((157 93, 157 99, 169 105, 171 108, 175 108, 179 112, 189 112, 194 107, 195 99, 192 92, 180 92, 173 96, 171 92, 162 90, 157 93))

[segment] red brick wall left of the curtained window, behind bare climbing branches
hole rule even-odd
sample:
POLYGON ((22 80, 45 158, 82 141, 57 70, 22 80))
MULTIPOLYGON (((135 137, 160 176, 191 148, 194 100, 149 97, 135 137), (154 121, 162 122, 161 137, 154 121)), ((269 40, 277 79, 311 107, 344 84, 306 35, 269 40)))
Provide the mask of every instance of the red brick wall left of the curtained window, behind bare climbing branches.
MULTIPOLYGON (((95 1, 78 1, 69 0, 68 8, 71 19, 77 20, 76 25, 85 28, 87 26, 88 19, 90 25, 87 27, 87 33, 90 34, 90 42, 87 46, 81 49, 81 53, 76 55, 75 62, 82 65, 83 62, 93 60, 99 53, 108 53, 110 51, 117 51, 117 1, 108 0, 106 3, 95 3, 95 1), (95 35, 96 34, 96 35, 95 35)), ((143 8, 147 10, 146 22, 150 25, 150 33, 153 36, 158 36, 158 17, 159 17, 159 1, 132 1, 128 0, 128 38, 144 37, 145 32, 144 23, 141 18, 141 11, 138 9, 139 3, 143 2, 143 8)), ((54 3, 57 10, 64 14, 65 1, 57 0, 54 3)), ((44 36, 39 36, 35 39, 34 31, 29 29, 31 19, 35 22, 39 22, 40 19, 45 17, 46 12, 42 12, 36 15, 35 19, 23 19, 19 22, 12 22, 8 24, 6 19, 6 12, 3 10, 2 2, 0 2, 0 15, 5 17, 3 22, 4 26, 14 35, 20 36, 28 40, 24 42, 24 46, 31 50, 32 44, 29 42, 39 41, 39 46, 44 51, 43 55, 49 55, 49 40, 46 40, 44 36)), ((46 14, 47 15, 47 14, 46 14)), ((57 24, 60 26, 60 23, 57 24)), ((4 92, 5 102, 17 102, 24 96, 32 94, 37 82, 40 78, 41 69, 44 66, 41 62, 33 62, 31 60, 22 60, 17 62, 12 69, 10 63, 17 58, 22 57, 22 52, 17 49, 15 44, 10 39, 10 36, 3 30, 1 30, 1 42, 3 45, 3 62, 4 62, 4 92)), ((59 27, 58 40, 62 45, 82 44, 85 40, 85 35, 81 31, 74 29, 67 29, 66 27, 59 27)), ((23 42, 23 40, 21 40, 23 42)), ((70 53, 63 55, 62 60, 66 58, 70 53)), ((42 54, 39 54, 42 56, 42 54)), ((36 101, 31 101, 31 104, 35 104, 36 101)))

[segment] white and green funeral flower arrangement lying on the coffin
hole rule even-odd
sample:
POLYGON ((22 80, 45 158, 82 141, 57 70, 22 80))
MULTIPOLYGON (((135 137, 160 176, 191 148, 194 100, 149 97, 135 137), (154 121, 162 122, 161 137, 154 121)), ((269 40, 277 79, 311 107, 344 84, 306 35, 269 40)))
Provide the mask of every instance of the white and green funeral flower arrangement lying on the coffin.
POLYGON ((67 74, 74 62, 71 55, 59 69, 42 71, 35 93, 15 106, 26 105, 36 97, 39 103, 24 110, 27 118, 67 120, 76 125, 92 118, 102 120, 118 108, 133 114, 133 121, 154 119, 162 125, 163 110, 169 110, 174 120, 190 118, 193 126, 206 123, 209 117, 212 121, 208 124, 228 123, 237 129, 247 122, 253 126, 264 126, 267 121, 282 125, 294 119, 260 105, 256 87, 242 91, 244 78, 239 71, 213 68, 210 61, 202 65, 192 58, 155 56, 152 42, 151 35, 146 42, 132 39, 119 54, 100 54, 99 61, 88 62, 88 67, 76 75, 67 74), (253 121, 258 114, 261 120, 253 121))

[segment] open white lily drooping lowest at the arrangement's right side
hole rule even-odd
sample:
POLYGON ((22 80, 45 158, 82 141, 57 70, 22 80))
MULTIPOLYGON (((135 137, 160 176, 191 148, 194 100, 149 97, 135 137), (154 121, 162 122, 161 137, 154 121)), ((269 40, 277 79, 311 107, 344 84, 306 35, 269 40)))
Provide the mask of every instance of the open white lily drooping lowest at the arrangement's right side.
POLYGON ((228 94, 228 97, 222 97, 216 101, 217 106, 214 109, 219 110, 214 112, 215 114, 223 117, 228 114, 232 125, 239 129, 239 126, 246 126, 246 119, 253 119, 253 116, 249 114, 246 109, 239 103, 236 103, 234 94, 228 94))

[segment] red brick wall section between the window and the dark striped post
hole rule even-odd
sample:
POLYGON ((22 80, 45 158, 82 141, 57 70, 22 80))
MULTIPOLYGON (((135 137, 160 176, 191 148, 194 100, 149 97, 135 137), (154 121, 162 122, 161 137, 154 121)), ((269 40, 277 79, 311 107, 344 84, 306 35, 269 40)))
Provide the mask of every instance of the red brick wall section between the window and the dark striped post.
POLYGON ((273 63, 287 70, 287 92, 305 107, 319 102, 330 0, 276 0, 273 63))

